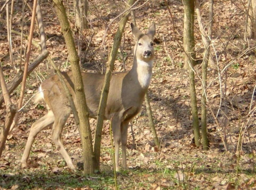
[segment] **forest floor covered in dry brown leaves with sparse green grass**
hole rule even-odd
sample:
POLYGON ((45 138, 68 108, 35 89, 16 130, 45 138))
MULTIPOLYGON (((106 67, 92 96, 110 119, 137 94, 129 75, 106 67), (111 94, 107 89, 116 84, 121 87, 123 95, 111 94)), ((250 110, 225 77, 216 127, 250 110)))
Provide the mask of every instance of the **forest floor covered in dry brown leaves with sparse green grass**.
MULTIPOLYGON (((31 1, 29 1, 31 3, 31 1)), ((66 2, 66 1, 64 1, 66 2)), ((69 1, 67 1, 69 2, 69 1)), ((140 1, 142 5, 145 1, 140 1)), ((201 14, 207 23, 209 2, 202 0, 201 14)), ((194 144, 192 117, 190 109, 189 79, 187 70, 183 69, 183 49, 175 37, 183 44, 184 7, 181 0, 168 0, 174 16, 175 33, 170 15, 164 1, 149 1, 135 10, 137 26, 146 32, 150 23, 156 23, 155 62, 149 98, 156 131, 161 148, 154 146, 145 105, 141 113, 133 120, 135 149, 131 130, 128 130, 127 164, 129 169, 117 174, 119 189, 125 190, 168 190, 168 189, 256 189, 255 151, 256 151, 256 114, 254 87, 256 81, 256 50, 254 41, 244 41, 246 14, 242 1, 219 0, 214 3, 213 23, 213 60, 219 67, 209 67, 207 97, 208 108, 217 115, 215 119, 208 110, 209 151, 194 144), (164 39, 163 39, 164 36, 164 39), (250 42, 250 43, 249 43, 250 42), (214 51, 213 51, 214 48, 214 51), (218 62, 216 61, 218 60, 218 62), (252 103, 251 103, 251 100, 252 103), (248 120, 250 119, 249 123, 248 120), (218 121, 218 125, 217 122, 218 121), (246 127, 242 150, 236 153, 241 127, 246 127), (221 136, 226 135, 228 151, 225 150, 221 136), (238 162, 239 160, 239 162, 238 162)), ((87 72, 101 72, 108 58, 114 33, 115 20, 107 32, 104 49, 100 49, 106 25, 123 11, 124 3, 118 0, 90 1, 90 29, 80 38, 82 52, 92 38, 89 51, 82 64, 87 72), (95 35, 93 33, 95 32, 95 35), (104 64, 102 64, 104 63, 104 64)), ((50 2, 42 1, 43 20, 47 36, 47 49, 60 70, 70 70, 67 51, 61 29, 50 2)), ((72 7, 67 13, 71 20, 72 7)), ((15 2, 13 29, 20 31, 21 2, 15 2)), ((31 11, 25 8, 25 33, 29 31, 31 11)), ((129 19, 128 23, 132 22, 129 19)), ((123 55, 127 56, 126 69, 131 68, 133 60, 133 37, 130 25, 125 29, 125 43, 122 42, 123 55)), ((73 25, 72 25, 73 27, 73 25)), ((198 62, 202 62, 204 46, 195 21, 195 51, 198 62)), ((34 39, 39 42, 38 32, 34 39)), ((76 44, 79 39, 74 34, 76 44)), ((20 37, 12 39, 15 64, 19 64, 20 37)), ((23 44, 25 46, 25 44, 23 44)), ((9 64, 6 17, 0 16, 0 58, 4 68, 5 79, 10 81, 14 71, 9 64)), ((32 49, 32 59, 40 54, 32 49)), ((123 71, 123 58, 119 52, 115 71, 123 71)), ((23 58, 25 56, 23 55, 23 58)), ((196 90, 199 119, 201 113, 201 65, 195 67, 196 90), (200 77, 200 78, 199 78, 200 77)), ((36 93, 41 80, 54 74, 53 68, 45 61, 33 71, 27 80, 24 102, 36 93)), ((20 86, 12 93, 12 101, 17 104, 20 86)), ((29 158, 29 167, 21 168, 20 160, 33 122, 46 113, 44 104, 35 107, 31 102, 23 109, 19 125, 9 135, 2 158, 0 158, 0 189, 46 189, 46 190, 108 190, 115 189, 112 160, 112 147, 109 135, 109 122, 104 123, 101 150, 100 174, 84 176, 83 172, 71 171, 51 139, 52 127, 38 134, 29 158)), ((5 107, 0 110, 0 125, 4 124, 5 107)), ((92 134, 95 120, 91 119, 92 134)), ((242 130, 242 133, 244 130, 242 130)), ((63 142, 73 162, 79 164, 81 158, 81 140, 73 116, 67 121, 63 131, 63 142)))

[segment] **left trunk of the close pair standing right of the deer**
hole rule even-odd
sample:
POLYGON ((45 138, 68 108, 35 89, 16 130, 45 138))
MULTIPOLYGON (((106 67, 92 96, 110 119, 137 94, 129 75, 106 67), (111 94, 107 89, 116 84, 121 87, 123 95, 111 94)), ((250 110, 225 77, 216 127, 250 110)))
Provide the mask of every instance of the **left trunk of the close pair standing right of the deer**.
POLYGON ((199 119, 197 113, 197 97, 194 81, 194 0, 183 0, 184 3, 184 50, 185 68, 189 70, 190 77, 190 98, 193 118, 194 140, 196 146, 200 146, 199 119))

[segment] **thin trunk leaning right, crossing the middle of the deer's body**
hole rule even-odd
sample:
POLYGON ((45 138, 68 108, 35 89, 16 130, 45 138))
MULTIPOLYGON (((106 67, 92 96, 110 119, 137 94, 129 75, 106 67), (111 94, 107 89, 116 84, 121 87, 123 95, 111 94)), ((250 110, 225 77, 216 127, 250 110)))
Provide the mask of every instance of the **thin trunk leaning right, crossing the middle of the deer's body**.
MULTIPOLYGON (((133 5, 135 0, 128 0, 128 5, 133 5)), ((126 9, 128 9, 130 6, 126 6, 126 9)), ((97 126, 95 130, 95 141, 94 141, 94 153, 95 153, 95 169, 100 169, 100 144, 101 144, 101 135, 102 135, 102 126, 103 126, 103 119, 104 119, 104 112, 107 105, 107 96, 109 92, 109 86, 110 86, 110 79, 112 72, 114 70, 114 62, 116 60, 116 54, 118 51, 118 48, 121 43, 123 30, 125 28, 126 22, 128 20, 129 13, 124 16, 123 19, 121 19, 121 22, 119 24, 119 28, 117 29, 116 35, 114 37, 114 44, 110 52, 109 56, 109 65, 107 67, 107 71, 105 74, 104 84, 102 88, 102 94, 100 97, 100 106, 98 110, 98 117, 97 117, 97 126)))

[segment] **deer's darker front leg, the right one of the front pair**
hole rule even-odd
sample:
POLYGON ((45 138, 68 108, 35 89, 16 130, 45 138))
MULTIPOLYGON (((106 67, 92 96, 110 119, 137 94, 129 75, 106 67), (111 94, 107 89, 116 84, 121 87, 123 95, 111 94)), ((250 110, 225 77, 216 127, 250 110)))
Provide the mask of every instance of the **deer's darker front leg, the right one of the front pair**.
POLYGON ((130 120, 123 121, 121 123, 121 143, 122 143, 122 167, 128 169, 126 164, 126 145, 127 145, 127 133, 128 124, 130 120))

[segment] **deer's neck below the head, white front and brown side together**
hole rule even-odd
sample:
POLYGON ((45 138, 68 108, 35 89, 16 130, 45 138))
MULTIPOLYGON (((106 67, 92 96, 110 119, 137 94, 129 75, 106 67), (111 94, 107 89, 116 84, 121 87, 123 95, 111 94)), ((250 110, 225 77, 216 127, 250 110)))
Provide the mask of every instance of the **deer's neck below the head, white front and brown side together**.
POLYGON ((130 70, 133 79, 137 79, 142 89, 147 89, 152 77, 153 60, 145 62, 134 57, 133 67, 130 70))

